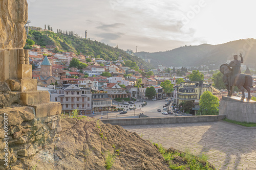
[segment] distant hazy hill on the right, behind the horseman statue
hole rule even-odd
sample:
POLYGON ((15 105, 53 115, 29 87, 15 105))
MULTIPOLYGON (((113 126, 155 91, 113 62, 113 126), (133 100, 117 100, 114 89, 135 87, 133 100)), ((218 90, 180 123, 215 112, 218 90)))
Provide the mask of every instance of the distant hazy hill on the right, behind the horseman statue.
MULTIPOLYGON (((245 64, 256 63, 255 39, 241 39, 224 44, 210 45, 201 44, 196 46, 182 46, 171 51, 136 53, 142 59, 151 59, 154 66, 163 64, 165 66, 198 66, 215 64, 216 68, 227 60, 231 60, 233 54, 242 53, 245 64)), ((256 66, 256 64, 255 64, 256 66)), ((252 67, 250 65, 250 67, 252 67)))

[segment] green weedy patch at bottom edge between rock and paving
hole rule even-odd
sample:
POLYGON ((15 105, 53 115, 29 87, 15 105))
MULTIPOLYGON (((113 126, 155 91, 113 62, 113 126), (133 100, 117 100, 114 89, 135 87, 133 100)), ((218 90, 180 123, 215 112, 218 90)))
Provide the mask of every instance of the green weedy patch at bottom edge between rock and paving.
POLYGON ((170 169, 191 169, 191 170, 214 170, 215 168, 207 162, 208 157, 202 153, 199 156, 192 155, 189 150, 179 152, 175 149, 168 149, 167 151, 161 144, 153 143, 163 158, 169 164, 170 169))

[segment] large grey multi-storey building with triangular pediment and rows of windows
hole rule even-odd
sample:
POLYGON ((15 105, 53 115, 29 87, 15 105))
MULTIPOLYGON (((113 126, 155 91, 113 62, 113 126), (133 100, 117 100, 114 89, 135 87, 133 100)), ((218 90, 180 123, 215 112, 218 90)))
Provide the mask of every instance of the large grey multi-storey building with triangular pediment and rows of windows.
POLYGON ((51 102, 60 102, 62 112, 72 113, 77 109, 79 114, 92 113, 92 93, 89 88, 79 88, 74 84, 65 84, 51 93, 51 102))

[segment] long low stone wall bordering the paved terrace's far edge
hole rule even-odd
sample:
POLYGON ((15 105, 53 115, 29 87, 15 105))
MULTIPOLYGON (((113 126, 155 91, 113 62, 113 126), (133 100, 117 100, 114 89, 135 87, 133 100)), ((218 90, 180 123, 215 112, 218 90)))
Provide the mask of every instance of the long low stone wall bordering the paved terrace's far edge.
POLYGON ((145 117, 145 118, 118 118, 103 119, 101 122, 111 125, 153 125, 153 124, 179 124, 214 122, 222 120, 226 115, 207 115, 207 116, 177 116, 177 117, 145 117))

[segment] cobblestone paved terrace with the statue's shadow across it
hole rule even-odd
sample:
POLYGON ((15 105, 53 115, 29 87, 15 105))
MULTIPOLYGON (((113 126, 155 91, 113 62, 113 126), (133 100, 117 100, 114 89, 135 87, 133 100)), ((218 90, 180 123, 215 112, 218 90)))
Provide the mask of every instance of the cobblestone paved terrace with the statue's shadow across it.
POLYGON ((225 122, 123 126, 142 138, 198 155, 205 152, 216 169, 256 169, 256 129, 225 122))

